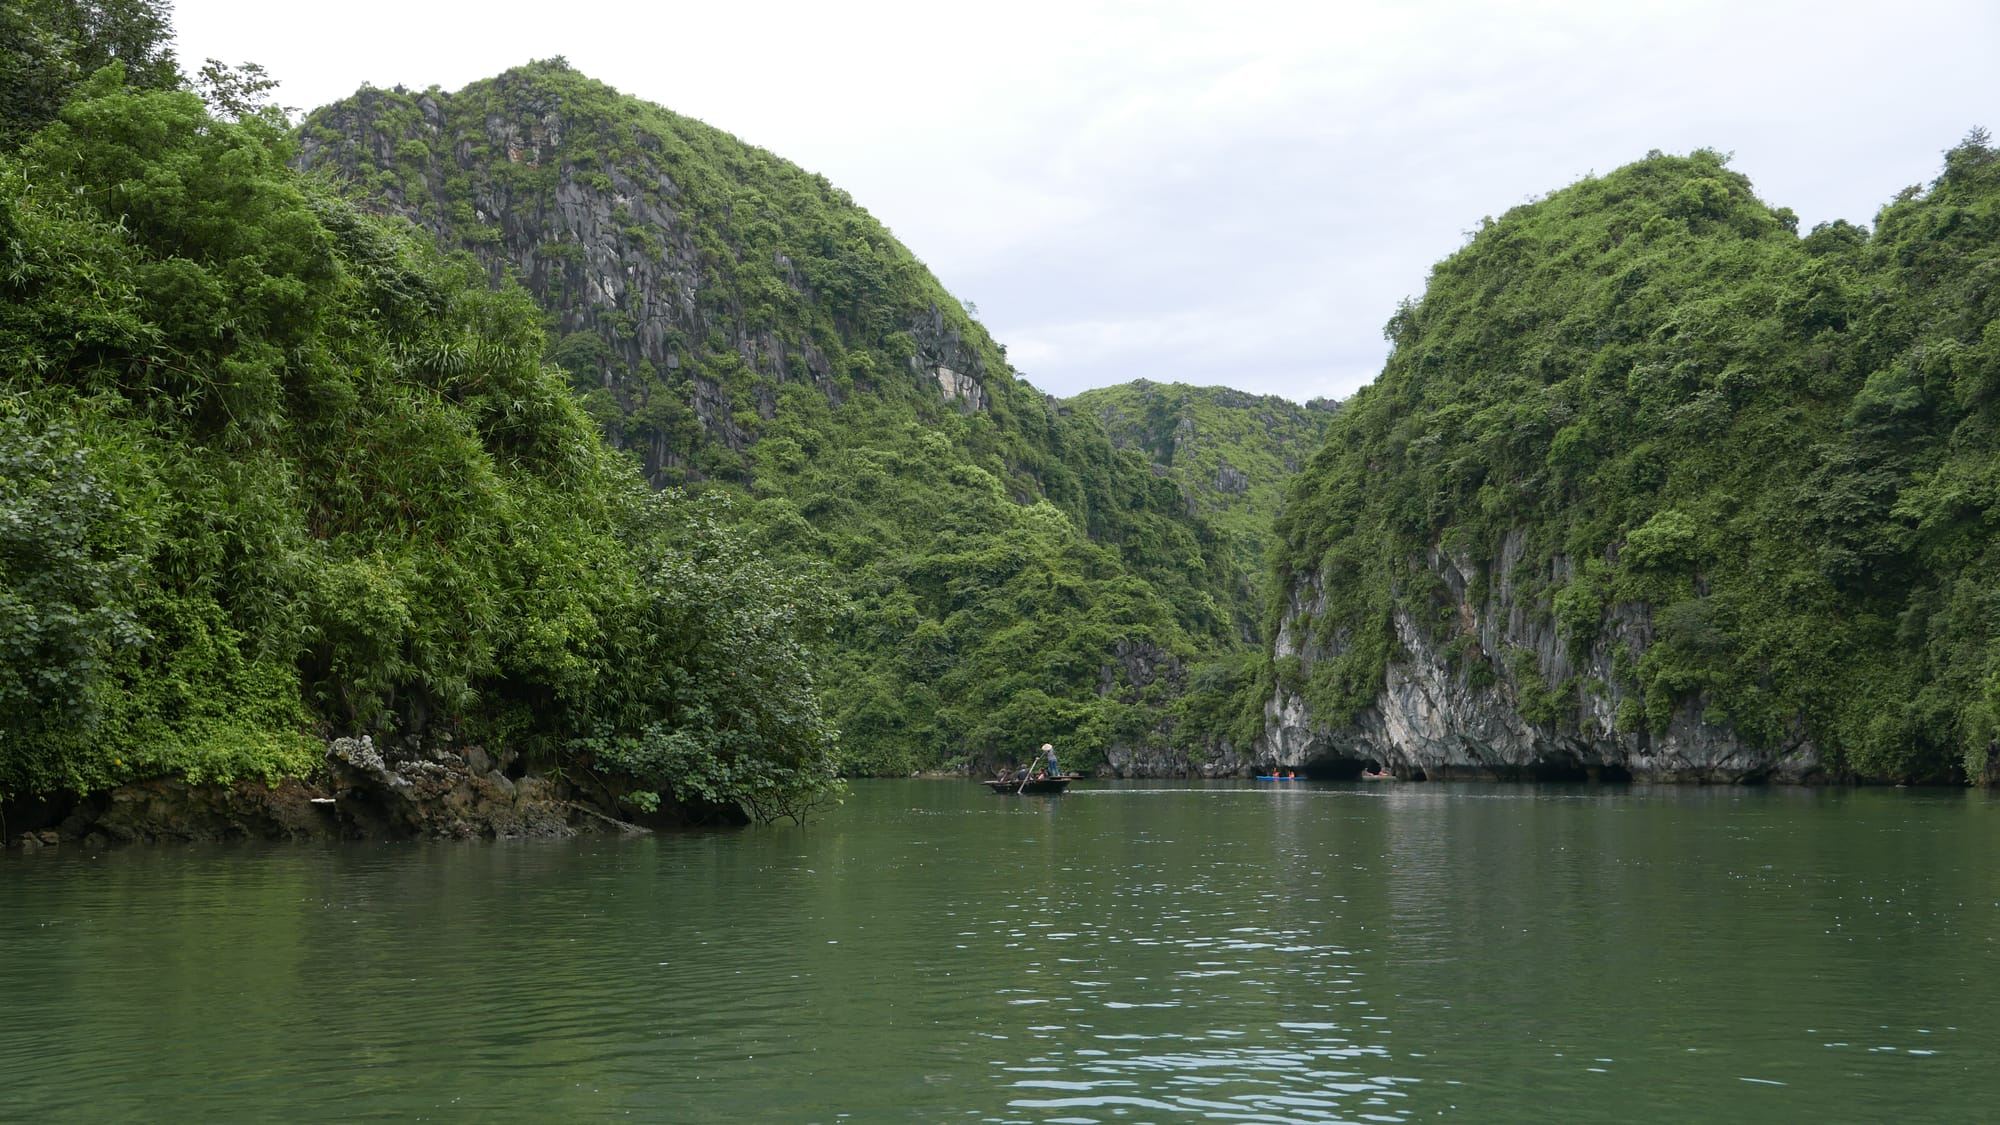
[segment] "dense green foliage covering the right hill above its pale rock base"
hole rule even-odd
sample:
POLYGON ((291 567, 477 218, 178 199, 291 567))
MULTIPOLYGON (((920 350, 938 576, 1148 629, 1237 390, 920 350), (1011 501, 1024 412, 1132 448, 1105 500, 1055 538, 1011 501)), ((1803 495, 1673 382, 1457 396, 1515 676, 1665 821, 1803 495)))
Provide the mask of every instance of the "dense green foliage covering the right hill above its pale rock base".
MULTIPOLYGON (((1466 623, 1472 558, 1588 649, 1614 607, 1620 727, 1696 707, 1860 777, 1986 769, 2000 705, 2000 156, 1974 132, 1876 230, 1808 236, 1712 152, 1654 154, 1488 220, 1388 324, 1382 378, 1288 500, 1278 562, 1324 581, 1280 667, 1322 721, 1374 701, 1392 611, 1466 623), (1494 573, 1502 542, 1526 556, 1494 573)), ((1468 679, 1518 655, 1450 649, 1468 679)), ((1532 673, 1532 661, 1526 661, 1532 673)), ((1526 677, 1530 719, 1578 693, 1526 677)))

